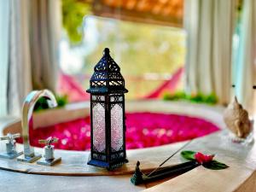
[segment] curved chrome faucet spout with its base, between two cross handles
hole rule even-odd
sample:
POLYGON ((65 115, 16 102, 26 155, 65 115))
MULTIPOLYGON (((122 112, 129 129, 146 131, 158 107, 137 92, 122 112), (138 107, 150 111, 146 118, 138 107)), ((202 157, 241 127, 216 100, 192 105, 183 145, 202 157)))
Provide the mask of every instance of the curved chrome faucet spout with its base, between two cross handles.
POLYGON ((21 119, 24 154, 17 159, 19 161, 32 163, 42 157, 41 154, 34 153, 34 148, 30 146, 29 143, 29 130, 32 128, 33 109, 36 102, 38 102, 38 99, 41 97, 45 97, 47 99, 49 108, 55 108, 57 106, 55 96, 50 90, 33 90, 26 96, 23 103, 21 119))

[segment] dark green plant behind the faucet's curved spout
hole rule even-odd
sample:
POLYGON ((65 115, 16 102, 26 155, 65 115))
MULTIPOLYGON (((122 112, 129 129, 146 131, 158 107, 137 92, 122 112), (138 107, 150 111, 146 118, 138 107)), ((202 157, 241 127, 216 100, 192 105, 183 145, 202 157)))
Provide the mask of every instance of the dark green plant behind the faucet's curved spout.
MULTIPOLYGON (((55 96, 56 101, 58 103, 57 108, 62 108, 64 107, 68 100, 67 100, 67 96, 55 96)), ((38 99, 38 102, 35 105, 34 111, 41 111, 44 109, 49 108, 48 103, 47 103, 47 99, 44 97, 41 97, 38 99)))

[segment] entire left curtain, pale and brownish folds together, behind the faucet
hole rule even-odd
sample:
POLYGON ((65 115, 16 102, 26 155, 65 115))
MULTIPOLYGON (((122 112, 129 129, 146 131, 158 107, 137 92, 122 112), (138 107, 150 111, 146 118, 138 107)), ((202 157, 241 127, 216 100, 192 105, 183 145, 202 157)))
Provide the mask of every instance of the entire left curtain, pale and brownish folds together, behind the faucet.
POLYGON ((55 90, 60 0, 10 0, 8 112, 19 115, 25 96, 35 89, 55 90))

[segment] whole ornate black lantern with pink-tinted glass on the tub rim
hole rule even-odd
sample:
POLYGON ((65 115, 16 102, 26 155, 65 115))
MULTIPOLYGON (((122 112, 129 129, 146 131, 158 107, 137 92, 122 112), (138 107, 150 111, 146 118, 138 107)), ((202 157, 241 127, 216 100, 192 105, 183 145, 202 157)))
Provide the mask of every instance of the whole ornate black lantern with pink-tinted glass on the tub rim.
POLYGON ((104 49, 90 78, 89 165, 113 169, 128 162, 125 152, 125 79, 104 49))

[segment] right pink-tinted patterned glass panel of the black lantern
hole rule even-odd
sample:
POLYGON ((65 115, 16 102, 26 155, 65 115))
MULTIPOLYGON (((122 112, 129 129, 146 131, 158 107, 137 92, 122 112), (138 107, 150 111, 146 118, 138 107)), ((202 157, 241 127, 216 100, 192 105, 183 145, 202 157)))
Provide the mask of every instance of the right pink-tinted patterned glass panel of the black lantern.
POLYGON ((111 108, 111 148, 118 151, 123 147, 123 108, 114 104, 111 108))

